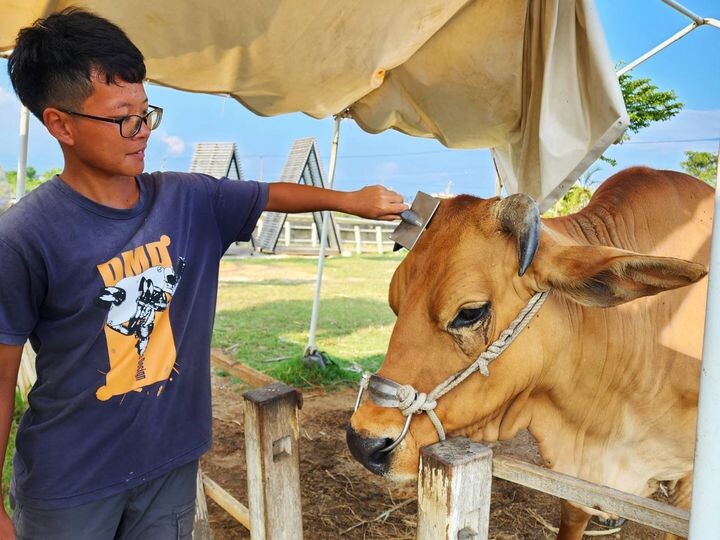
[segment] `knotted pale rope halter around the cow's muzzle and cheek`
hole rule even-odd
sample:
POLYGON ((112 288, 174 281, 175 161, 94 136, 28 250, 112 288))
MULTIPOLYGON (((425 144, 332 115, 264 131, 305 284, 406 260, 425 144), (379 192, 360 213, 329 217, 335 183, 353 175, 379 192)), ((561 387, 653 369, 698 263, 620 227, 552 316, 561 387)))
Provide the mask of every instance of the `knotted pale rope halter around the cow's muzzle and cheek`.
POLYGON ((355 411, 360 407, 363 392, 368 391, 370 400, 380 407, 391 409, 400 409, 400 412, 407 418, 400 436, 393 443, 381 450, 381 452, 391 452, 399 445, 410 429, 410 420, 413 414, 422 414, 426 412, 435 431, 441 441, 445 440, 445 430, 442 423, 435 413, 437 400, 450 390, 455 388, 475 371, 479 371, 486 377, 490 375, 488 367, 502 352, 507 349, 515 338, 523 331, 535 314, 538 312, 543 302, 547 298, 548 291, 535 293, 528 301, 525 307, 520 311, 517 317, 510 323, 500 336, 493 341, 490 346, 478 358, 465 369, 451 375, 431 392, 418 392, 409 384, 399 384, 385 377, 364 373, 360 380, 360 389, 357 399, 355 400, 355 411))

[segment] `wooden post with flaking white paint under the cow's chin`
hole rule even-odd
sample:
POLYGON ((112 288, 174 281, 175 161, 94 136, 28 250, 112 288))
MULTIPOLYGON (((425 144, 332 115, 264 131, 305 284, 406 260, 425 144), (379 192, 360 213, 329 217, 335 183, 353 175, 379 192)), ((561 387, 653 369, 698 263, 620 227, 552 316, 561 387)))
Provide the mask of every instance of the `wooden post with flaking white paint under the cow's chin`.
POLYGON ((417 540, 487 540, 492 450, 463 437, 423 448, 417 540))

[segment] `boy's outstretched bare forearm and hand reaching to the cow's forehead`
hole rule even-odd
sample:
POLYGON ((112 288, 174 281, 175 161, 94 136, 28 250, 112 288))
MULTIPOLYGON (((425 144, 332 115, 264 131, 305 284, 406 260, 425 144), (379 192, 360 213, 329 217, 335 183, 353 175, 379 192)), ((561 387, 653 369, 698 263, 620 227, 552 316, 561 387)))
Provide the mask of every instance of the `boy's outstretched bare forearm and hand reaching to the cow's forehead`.
POLYGON ((268 184, 270 212, 313 212, 336 210, 369 219, 400 219, 407 209, 402 195, 383 186, 368 186, 358 191, 334 191, 289 182, 268 184))

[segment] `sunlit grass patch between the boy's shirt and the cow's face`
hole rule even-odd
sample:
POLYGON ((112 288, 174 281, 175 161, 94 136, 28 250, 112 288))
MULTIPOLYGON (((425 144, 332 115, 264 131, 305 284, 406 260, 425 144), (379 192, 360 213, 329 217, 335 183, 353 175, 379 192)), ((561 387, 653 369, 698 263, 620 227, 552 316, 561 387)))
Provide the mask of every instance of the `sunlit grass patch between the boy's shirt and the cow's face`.
POLYGON ((387 302, 401 253, 325 261, 316 343, 328 368, 302 362, 308 342, 317 259, 253 257, 223 261, 213 346, 293 386, 351 384, 376 370, 395 321, 387 302))

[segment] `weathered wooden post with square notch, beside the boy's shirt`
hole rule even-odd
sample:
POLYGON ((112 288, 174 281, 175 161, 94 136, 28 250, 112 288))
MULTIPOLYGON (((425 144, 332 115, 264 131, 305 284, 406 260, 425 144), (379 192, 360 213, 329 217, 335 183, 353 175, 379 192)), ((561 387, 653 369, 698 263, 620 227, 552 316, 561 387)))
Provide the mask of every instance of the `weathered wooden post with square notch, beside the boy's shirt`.
POLYGON ((250 537, 302 540, 298 449, 302 394, 275 383, 243 397, 250 537))

